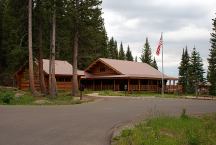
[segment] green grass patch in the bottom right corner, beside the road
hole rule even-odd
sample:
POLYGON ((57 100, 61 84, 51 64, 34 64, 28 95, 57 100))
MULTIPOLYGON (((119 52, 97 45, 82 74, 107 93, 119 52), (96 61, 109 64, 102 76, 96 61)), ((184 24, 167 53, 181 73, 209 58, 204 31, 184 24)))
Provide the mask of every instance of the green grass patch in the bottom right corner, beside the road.
POLYGON ((113 145, 216 145, 216 114, 153 118, 123 130, 113 145))

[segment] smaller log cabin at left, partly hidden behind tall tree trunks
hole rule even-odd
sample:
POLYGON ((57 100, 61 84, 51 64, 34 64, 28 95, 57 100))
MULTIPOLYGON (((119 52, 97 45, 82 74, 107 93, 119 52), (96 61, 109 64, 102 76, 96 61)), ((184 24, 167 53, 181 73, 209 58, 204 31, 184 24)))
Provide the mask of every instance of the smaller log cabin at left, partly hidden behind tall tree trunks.
MULTIPOLYGON (((45 85, 48 89, 49 84, 49 60, 43 59, 43 72, 45 85)), ((57 89, 70 90, 72 89, 72 72, 73 67, 67 61, 55 60, 55 77, 57 89)), ((81 76, 84 76, 84 71, 78 70, 78 81, 80 82, 81 76)), ((16 86, 21 90, 29 89, 29 71, 28 63, 24 64, 14 75, 16 86)), ((39 67, 38 62, 34 61, 34 80, 37 90, 40 89, 39 84, 39 67)))

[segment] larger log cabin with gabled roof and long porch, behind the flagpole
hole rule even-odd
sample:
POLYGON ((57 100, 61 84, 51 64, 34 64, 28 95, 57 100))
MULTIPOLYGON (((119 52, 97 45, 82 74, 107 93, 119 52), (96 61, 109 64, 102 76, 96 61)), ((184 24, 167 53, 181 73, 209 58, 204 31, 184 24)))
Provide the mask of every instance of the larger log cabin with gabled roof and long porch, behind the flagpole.
MULTIPOLYGON (((126 60, 99 58, 85 69, 82 83, 87 89, 113 91, 161 91, 162 73, 152 66, 126 60)), ((178 79, 164 74, 166 92, 180 90, 178 79)))

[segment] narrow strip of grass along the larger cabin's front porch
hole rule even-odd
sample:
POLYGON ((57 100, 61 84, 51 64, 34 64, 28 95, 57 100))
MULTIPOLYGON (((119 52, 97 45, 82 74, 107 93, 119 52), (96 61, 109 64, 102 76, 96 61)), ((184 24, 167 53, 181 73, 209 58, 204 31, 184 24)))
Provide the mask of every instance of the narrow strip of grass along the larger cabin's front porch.
MULTIPOLYGON (((162 97, 161 94, 159 93, 154 93, 154 92, 147 92, 147 91, 134 91, 134 92, 125 92, 124 91, 111 91, 111 90, 106 90, 106 91, 98 91, 98 95, 100 96, 130 96, 130 97, 162 97)), ((164 94, 165 98, 181 98, 183 97, 182 95, 178 94, 164 94)))

